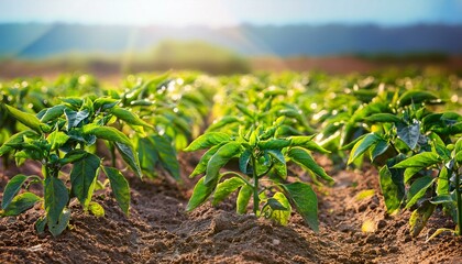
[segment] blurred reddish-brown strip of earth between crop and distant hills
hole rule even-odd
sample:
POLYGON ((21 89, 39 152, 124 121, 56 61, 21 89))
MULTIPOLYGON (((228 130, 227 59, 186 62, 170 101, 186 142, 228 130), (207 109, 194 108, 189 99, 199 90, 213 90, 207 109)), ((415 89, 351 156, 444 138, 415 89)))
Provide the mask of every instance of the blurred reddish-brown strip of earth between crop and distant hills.
MULTIPOLYGON (((327 57, 250 57, 248 58, 252 72, 309 72, 321 70, 327 74, 370 74, 374 70, 408 68, 431 69, 439 72, 459 73, 462 70, 462 56, 449 56, 442 59, 413 61, 413 59, 366 59, 358 56, 327 56, 327 57)), ((62 73, 88 73, 108 82, 119 84, 120 76, 129 73, 153 72, 153 70, 182 70, 182 68, 153 68, 147 66, 134 67, 127 72, 121 63, 89 63, 88 65, 76 64, 66 61, 62 64, 46 63, 43 61, 0 61, 0 79, 12 79, 20 77, 42 76, 45 79, 55 79, 62 73)), ((207 69, 202 69, 207 72, 207 69)), ((213 70, 217 70, 213 68, 213 70)), ((215 74, 220 74, 211 72, 215 74)), ((228 72, 227 72, 228 73, 228 72)), ((221 74, 227 74, 221 73, 221 74)), ((239 73, 239 72, 238 72, 239 73)), ((229 74, 229 73, 228 73, 229 74)))

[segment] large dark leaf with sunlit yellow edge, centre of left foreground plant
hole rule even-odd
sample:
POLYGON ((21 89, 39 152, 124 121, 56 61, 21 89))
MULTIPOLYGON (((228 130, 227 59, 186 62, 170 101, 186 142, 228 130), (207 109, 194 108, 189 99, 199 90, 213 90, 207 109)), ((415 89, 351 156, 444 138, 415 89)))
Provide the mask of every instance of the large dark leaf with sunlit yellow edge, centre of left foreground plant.
POLYGON ((85 158, 74 163, 70 172, 72 191, 84 209, 90 204, 100 164, 98 156, 88 153, 85 158))

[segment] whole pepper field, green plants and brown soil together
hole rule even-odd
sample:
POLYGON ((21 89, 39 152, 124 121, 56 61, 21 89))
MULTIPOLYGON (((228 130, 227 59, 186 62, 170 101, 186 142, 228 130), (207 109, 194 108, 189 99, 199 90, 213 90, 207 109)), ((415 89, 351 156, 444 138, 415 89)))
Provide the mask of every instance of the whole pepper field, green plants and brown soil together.
POLYGON ((0 84, 3 263, 462 262, 459 76, 101 81, 0 84))

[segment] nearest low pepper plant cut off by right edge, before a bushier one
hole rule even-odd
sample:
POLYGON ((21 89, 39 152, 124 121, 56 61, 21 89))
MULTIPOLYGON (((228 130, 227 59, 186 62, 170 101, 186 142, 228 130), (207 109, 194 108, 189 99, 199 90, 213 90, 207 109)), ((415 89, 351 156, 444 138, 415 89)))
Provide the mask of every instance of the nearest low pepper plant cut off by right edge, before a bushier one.
POLYGON ((419 205, 409 219, 413 234, 416 235, 424 229, 438 205, 453 218, 457 228, 438 229, 429 239, 444 231, 462 234, 462 139, 455 144, 444 145, 436 138, 431 152, 410 156, 393 168, 405 169, 407 180, 418 173, 425 175, 410 186, 406 204, 406 208, 419 205))

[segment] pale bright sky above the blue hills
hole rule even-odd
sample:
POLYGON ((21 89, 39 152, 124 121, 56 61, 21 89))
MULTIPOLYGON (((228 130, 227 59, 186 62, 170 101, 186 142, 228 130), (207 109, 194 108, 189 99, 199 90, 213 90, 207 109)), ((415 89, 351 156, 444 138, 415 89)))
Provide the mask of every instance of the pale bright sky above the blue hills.
POLYGON ((0 0, 0 23, 462 24, 462 0, 0 0))

